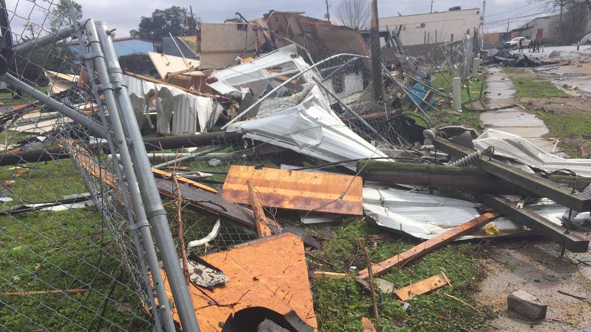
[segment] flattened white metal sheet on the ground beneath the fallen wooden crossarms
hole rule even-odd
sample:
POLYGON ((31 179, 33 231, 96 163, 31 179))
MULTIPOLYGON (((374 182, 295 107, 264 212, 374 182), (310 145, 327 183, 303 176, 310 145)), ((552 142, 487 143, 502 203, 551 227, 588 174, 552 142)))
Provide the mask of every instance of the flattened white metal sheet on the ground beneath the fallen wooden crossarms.
MULTIPOLYGON (((560 217, 564 206, 550 200, 542 200, 538 204, 530 204, 527 208, 540 214, 553 223, 561 224, 560 217)), ((403 190, 363 188, 363 209, 368 217, 376 221, 378 226, 386 227, 394 232, 407 233, 420 239, 431 239, 446 230, 459 226, 480 216, 475 203, 434 196, 424 193, 410 193, 403 190)), ((582 223, 589 213, 580 213, 574 223, 582 223)), ((515 235, 529 232, 520 223, 506 217, 495 220, 499 233, 494 236, 515 235)), ((481 227, 470 235, 459 239, 491 237, 481 227)))

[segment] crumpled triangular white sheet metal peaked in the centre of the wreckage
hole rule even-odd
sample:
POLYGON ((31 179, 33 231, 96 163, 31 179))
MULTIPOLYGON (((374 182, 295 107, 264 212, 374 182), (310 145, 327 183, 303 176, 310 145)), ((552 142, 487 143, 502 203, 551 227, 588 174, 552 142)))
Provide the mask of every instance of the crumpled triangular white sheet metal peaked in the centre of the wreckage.
MULTIPOLYGON (((226 131, 240 131, 247 138, 328 162, 388 157, 349 129, 317 86, 296 106, 266 118, 232 123, 226 131)), ((354 161, 342 165, 356 168, 354 161)))

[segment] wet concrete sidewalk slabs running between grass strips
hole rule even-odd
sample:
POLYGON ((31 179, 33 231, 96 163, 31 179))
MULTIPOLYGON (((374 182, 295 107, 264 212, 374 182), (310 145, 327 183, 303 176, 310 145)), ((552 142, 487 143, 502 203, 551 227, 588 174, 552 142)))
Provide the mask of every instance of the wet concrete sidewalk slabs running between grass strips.
MULTIPOLYGON (((513 82, 507 74, 501 72, 499 67, 488 70, 486 84, 486 90, 489 92, 486 95, 486 108, 504 108, 515 104, 513 82)), ((548 128, 544 122, 534 114, 525 112, 519 106, 482 112, 480 113, 480 121, 487 128, 527 138, 545 151, 551 152, 554 148, 555 141, 543 137, 548 134, 548 128)))

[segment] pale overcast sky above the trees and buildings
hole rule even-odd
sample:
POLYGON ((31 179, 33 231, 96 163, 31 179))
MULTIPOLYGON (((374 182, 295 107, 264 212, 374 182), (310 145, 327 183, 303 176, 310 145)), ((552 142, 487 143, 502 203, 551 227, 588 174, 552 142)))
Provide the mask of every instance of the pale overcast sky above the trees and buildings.
MULTIPOLYGON (((329 0, 332 21, 337 21, 336 9, 342 1, 329 0)), ((16 9, 15 12, 18 16, 30 16, 37 23, 44 16, 42 7, 47 8, 50 2, 58 2, 58 0, 6 0, 6 2, 9 10, 15 11, 16 9)), ((235 12, 240 12, 247 19, 253 19, 262 17, 263 13, 271 9, 303 11, 306 15, 316 18, 323 18, 326 12, 324 0, 258 0, 252 2, 243 0, 78 0, 78 2, 82 5, 83 17, 107 21, 109 27, 117 28, 117 37, 128 36, 129 30, 137 27, 141 17, 150 16, 154 9, 163 9, 172 5, 186 8, 192 6, 193 14, 203 22, 223 22, 226 18, 235 17, 235 12)), ((402 15, 421 14, 429 12, 430 6, 430 0, 378 0, 380 17, 395 16, 397 12, 402 15)), ((462 6, 462 9, 482 9, 482 1, 433 0, 433 11, 447 11, 451 6, 462 6)), ((532 4, 529 0, 488 0, 485 9, 485 32, 505 31, 508 18, 509 28, 519 27, 536 16, 548 15, 532 15, 544 11, 544 6, 539 3, 532 4), (526 15, 530 16, 526 17, 526 15)), ((18 17, 11 24, 13 30, 15 25, 21 25, 21 27, 24 25, 17 21, 18 17)))

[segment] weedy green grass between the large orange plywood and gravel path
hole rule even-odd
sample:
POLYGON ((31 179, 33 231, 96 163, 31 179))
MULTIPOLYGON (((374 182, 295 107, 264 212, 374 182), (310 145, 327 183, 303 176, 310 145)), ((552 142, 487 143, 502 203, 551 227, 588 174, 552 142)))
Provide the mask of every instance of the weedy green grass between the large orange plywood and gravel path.
MULTIPOLYGON (((343 272, 348 266, 355 264, 351 263, 355 256, 361 255, 362 258, 358 239, 379 232, 379 229, 370 226, 366 220, 345 220, 333 230, 333 239, 326 243, 323 251, 314 252, 314 255, 336 266, 342 266, 343 269, 335 269, 314 259, 310 260, 309 265, 322 271, 343 272)), ((414 242, 403 238, 394 242, 379 242, 375 246, 366 243, 372 261, 382 261, 414 245, 414 242)), ((383 301, 378 305, 384 331, 458 331, 462 328, 482 328, 493 314, 490 308, 479 307, 471 298, 477 291, 480 274, 475 261, 477 258, 478 251, 473 250, 470 244, 447 245, 381 276, 394 282, 395 287, 402 288, 443 271, 452 284, 452 287, 445 286, 430 294, 417 295, 408 301, 410 306, 407 310, 395 298, 384 295, 383 301), (445 259, 452 262, 460 273, 450 268, 445 259), (478 311, 447 297, 444 295, 446 293, 477 307, 478 311), (404 324, 399 327, 396 326, 397 322, 404 324)), ((353 277, 312 279, 311 284, 313 292, 317 294, 314 310, 320 331, 361 331, 363 316, 371 318, 375 323, 371 297, 362 291, 353 277)))

